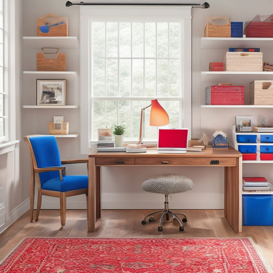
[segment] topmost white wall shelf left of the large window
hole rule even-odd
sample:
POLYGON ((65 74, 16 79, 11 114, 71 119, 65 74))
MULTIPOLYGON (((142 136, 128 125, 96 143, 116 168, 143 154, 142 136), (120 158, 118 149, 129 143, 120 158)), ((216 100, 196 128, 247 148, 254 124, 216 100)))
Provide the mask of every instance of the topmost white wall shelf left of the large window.
POLYGON ((78 48, 79 41, 77 37, 44 37, 44 36, 24 36, 23 45, 27 48, 78 48))

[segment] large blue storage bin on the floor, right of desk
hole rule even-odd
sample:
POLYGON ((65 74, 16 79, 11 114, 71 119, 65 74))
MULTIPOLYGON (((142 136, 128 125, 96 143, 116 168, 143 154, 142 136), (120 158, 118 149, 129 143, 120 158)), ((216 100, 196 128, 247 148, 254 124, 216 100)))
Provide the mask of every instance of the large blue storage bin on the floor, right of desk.
POLYGON ((243 225, 273 225, 273 195, 243 195, 243 225))

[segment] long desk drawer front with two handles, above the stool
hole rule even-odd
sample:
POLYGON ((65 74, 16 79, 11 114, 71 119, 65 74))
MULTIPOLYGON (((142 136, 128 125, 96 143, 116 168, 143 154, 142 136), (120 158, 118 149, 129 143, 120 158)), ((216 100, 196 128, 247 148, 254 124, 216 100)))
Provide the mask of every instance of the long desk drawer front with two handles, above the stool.
POLYGON ((135 165, 177 165, 177 166, 236 166, 236 158, 215 157, 143 157, 135 158, 135 165))

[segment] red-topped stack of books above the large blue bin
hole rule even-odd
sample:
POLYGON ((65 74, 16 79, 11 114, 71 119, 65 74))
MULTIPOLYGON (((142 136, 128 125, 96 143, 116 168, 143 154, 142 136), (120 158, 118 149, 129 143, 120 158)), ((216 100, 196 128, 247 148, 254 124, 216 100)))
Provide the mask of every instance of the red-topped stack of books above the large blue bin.
POLYGON ((245 192, 269 192, 271 184, 265 177, 243 177, 243 190, 245 192))

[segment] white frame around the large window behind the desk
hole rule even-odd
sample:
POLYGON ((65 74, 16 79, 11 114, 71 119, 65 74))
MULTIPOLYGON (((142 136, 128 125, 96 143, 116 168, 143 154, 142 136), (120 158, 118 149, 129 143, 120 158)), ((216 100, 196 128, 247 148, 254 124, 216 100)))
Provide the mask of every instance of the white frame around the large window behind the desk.
MULTIPOLYGON (((90 87, 91 87, 91 30, 90 20, 126 20, 141 18, 152 20, 179 20, 181 22, 181 127, 191 129, 192 124, 192 27, 191 7, 181 6, 83 6, 80 7, 80 151, 88 154, 95 148, 90 141, 90 87)), ((191 130, 189 130, 191 139, 191 130)))

